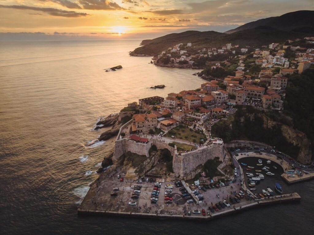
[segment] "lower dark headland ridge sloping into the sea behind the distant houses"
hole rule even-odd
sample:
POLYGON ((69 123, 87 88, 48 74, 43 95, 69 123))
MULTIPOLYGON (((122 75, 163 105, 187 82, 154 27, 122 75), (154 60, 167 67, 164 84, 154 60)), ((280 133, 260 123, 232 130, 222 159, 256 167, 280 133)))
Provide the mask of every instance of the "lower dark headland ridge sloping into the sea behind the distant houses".
POLYGON ((131 56, 155 56, 162 51, 173 47, 176 44, 191 42, 192 47, 221 47, 226 43, 239 45, 240 48, 246 45, 262 46, 273 42, 284 42, 288 39, 296 39, 307 34, 283 31, 268 26, 259 26, 255 29, 241 30, 232 34, 218 33, 215 31, 186 31, 179 34, 168 34, 151 40, 143 40, 141 47, 136 48, 130 53, 131 56))

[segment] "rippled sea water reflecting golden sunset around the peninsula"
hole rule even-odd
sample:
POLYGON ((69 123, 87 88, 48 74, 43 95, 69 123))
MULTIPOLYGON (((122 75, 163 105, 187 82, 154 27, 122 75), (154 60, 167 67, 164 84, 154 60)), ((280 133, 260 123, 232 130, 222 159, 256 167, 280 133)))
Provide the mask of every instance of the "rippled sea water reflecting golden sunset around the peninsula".
POLYGON ((300 203, 243 211, 210 222, 78 216, 113 140, 100 116, 139 98, 203 82, 195 71, 130 57, 140 40, 0 41, 0 234, 312 234, 314 181, 285 185, 300 203), (104 69, 122 65, 123 69, 104 69), (165 84, 160 89, 150 86, 165 84))

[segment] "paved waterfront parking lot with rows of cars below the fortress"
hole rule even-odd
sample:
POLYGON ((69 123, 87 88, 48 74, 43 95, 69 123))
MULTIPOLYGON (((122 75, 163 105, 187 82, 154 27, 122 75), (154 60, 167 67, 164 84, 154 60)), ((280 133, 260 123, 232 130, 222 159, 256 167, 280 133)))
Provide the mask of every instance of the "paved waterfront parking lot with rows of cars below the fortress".
MULTIPOLYGON (((238 177, 240 179, 240 177, 238 177)), ((211 188, 206 191, 198 190, 203 195, 203 200, 200 205, 197 205, 193 200, 192 203, 188 204, 186 199, 182 196, 180 188, 175 187, 175 182, 165 181, 163 179, 155 179, 157 182, 161 182, 157 203, 151 203, 152 191, 154 190, 154 182, 144 182, 139 184, 137 181, 123 180, 120 182, 116 176, 104 180, 98 181, 98 183, 91 186, 92 190, 82 203, 82 209, 86 210, 97 210, 97 211, 116 211, 116 212, 138 212, 138 213, 150 213, 150 214, 166 214, 166 215, 187 215, 188 211, 193 210, 202 211, 205 210, 206 215, 217 213, 218 211, 226 211, 233 209, 233 205, 229 200, 229 196, 234 196, 232 193, 241 190, 239 184, 239 179, 235 183, 229 186, 211 188), (165 203, 165 185, 173 185, 171 191, 171 201, 172 203, 165 203), (134 193, 134 187, 136 185, 141 185, 139 197, 131 198, 134 193), (114 191, 114 188, 119 188, 119 190, 114 191), (111 193, 116 192, 116 196, 111 196, 111 193), (218 211, 211 212, 209 206, 215 205, 219 201, 227 200, 230 207, 221 208, 218 211), (136 202, 136 205, 129 205, 129 202, 136 202)), ((202 185, 202 184, 201 184, 202 185)), ((202 185, 203 186, 203 185, 202 185)), ((191 186, 191 190, 194 186, 191 186)), ((170 200, 168 200, 169 202, 170 200)), ((236 203, 236 206, 243 206, 249 204, 250 200, 245 198, 241 199, 240 203, 236 203)), ((191 216, 202 216, 201 214, 193 214, 191 216)))

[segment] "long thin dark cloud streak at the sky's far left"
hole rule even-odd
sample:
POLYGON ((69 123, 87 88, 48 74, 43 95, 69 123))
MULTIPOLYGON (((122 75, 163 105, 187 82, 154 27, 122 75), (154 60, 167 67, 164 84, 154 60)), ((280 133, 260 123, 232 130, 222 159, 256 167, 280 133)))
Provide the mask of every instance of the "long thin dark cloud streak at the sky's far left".
POLYGON ((81 17, 81 16, 89 15, 89 14, 83 13, 83 12, 65 11, 65 10, 60 10, 60 9, 56 9, 56 8, 29 7, 29 6, 24 6, 24 5, 0 5, 0 8, 13 8, 13 9, 19 9, 19 10, 41 11, 41 12, 45 12, 49 15, 63 16, 63 17, 69 17, 69 18, 75 18, 75 17, 81 17))

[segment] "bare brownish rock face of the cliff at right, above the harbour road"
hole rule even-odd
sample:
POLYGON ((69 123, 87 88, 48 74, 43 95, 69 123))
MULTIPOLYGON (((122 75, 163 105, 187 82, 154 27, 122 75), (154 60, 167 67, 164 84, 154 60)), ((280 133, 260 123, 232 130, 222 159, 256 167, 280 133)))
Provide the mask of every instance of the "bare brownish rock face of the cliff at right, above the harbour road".
POLYGON ((281 126, 282 135, 288 142, 300 147, 300 151, 296 160, 300 163, 310 164, 312 158, 311 141, 306 138, 306 134, 293 129, 291 126, 283 125, 273 121, 263 115, 263 126, 265 128, 272 128, 273 126, 277 125, 281 126))

